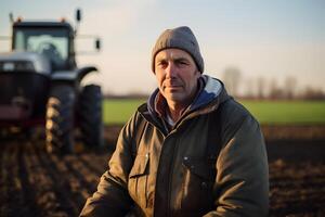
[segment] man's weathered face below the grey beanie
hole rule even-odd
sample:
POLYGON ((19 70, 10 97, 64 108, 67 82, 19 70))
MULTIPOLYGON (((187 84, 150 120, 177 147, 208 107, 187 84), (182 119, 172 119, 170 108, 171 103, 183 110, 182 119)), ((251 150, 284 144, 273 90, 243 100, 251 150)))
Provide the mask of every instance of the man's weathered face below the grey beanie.
POLYGON ((179 49, 158 52, 155 58, 155 73, 160 93, 169 105, 191 103, 200 73, 187 52, 179 49))

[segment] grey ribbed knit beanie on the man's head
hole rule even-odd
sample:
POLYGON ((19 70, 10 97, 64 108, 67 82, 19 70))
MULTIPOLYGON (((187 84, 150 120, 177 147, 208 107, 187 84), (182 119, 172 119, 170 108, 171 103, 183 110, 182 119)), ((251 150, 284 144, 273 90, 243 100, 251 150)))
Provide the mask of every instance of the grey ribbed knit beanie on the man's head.
POLYGON ((199 52, 197 40, 187 26, 181 26, 173 29, 166 29, 156 41, 152 52, 152 71, 155 73, 155 58, 164 49, 177 48, 191 54, 200 73, 204 72, 205 64, 199 52))

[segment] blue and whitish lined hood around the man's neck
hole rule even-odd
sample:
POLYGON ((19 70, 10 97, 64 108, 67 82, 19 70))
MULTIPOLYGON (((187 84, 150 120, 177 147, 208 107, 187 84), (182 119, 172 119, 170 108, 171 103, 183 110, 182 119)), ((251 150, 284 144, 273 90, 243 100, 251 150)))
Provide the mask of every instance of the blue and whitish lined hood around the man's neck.
MULTIPOLYGON (((216 110, 220 103, 230 98, 221 80, 208 75, 203 75, 199 79, 203 84, 203 88, 200 89, 200 92, 194 102, 187 108, 186 113, 191 113, 200 108, 205 108, 205 111, 207 108, 207 112, 216 110)), ((153 117, 157 116, 155 111, 155 100, 158 93, 159 89, 157 88, 147 100, 147 111, 153 117)))

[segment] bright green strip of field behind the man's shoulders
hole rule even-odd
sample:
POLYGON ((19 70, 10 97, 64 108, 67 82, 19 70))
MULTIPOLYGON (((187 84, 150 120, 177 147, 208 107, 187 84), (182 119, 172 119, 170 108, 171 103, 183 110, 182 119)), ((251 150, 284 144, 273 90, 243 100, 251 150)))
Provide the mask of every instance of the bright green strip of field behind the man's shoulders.
MULTIPOLYGON (((104 100, 104 123, 125 124, 145 99, 104 100)), ((325 124, 325 101, 248 101, 240 103, 261 124, 307 125, 325 124)))

